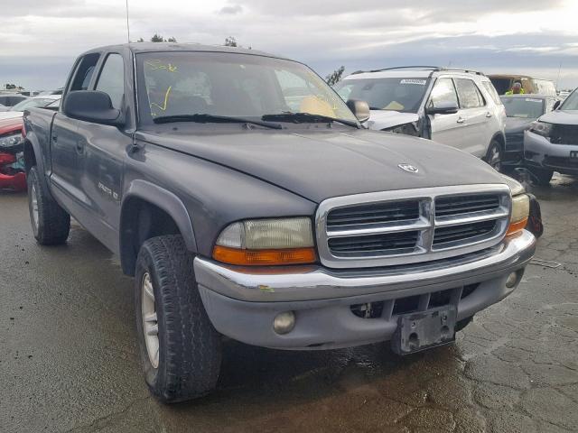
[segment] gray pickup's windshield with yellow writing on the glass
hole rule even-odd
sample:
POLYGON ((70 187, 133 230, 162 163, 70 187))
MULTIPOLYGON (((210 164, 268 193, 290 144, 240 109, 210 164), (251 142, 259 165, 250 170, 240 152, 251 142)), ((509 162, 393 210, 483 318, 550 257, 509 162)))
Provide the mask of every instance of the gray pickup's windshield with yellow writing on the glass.
MULTIPOLYGON (((172 51, 137 54, 136 65, 143 124, 166 116, 261 119, 286 113, 357 123, 333 89, 295 61, 242 53, 172 51)), ((308 123, 303 119, 299 123, 308 123)), ((286 121, 295 123, 290 118, 286 121)))

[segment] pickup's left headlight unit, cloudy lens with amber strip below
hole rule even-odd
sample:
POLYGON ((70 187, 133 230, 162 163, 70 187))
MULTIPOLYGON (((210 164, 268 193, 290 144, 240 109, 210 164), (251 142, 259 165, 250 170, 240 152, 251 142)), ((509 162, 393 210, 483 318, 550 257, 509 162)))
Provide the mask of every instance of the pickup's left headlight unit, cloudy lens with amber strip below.
POLYGON ((213 258, 239 265, 313 263, 316 254, 311 219, 248 219, 233 223, 217 238, 213 258))

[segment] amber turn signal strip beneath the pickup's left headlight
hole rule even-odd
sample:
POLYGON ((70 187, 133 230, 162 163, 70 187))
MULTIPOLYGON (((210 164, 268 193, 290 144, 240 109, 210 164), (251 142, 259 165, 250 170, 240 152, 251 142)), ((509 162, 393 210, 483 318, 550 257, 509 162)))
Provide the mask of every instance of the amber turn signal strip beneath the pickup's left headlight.
POLYGON ((271 266, 279 264, 314 263, 314 248, 286 248, 279 250, 243 250, 216 245, 213 259, 242 266, 271 266))

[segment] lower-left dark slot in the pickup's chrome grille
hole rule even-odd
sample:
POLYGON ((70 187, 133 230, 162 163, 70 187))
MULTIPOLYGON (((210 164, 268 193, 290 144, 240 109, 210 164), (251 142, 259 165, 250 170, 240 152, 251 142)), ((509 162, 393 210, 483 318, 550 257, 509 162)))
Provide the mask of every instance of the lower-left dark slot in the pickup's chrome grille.
POLYGON ((408 253, 415 249, 419 231, 383 235, 333 237, 329 240, 331 253, 350 255, 359 253, 408 253))

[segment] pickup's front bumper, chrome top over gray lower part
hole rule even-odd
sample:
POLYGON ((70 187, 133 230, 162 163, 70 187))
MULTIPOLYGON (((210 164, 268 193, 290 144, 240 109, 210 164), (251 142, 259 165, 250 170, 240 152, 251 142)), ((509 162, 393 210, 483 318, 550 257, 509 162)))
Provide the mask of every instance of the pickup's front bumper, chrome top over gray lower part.
POLYGON ((320 266, 243 268, 200 257, 194 270, 213 326, 238 341, 280 349, 327 349, 391 339, 397 317, 454 305, 470 318, 516 289, 534 255, 527 231, 452 262, 395 268, 329 270, 320 266), (514 284, 508 276, 516 273, 514 284), (294 328, 275 332, 280 313, 294 328), (366 318, 367 317, 367 318, 366 318))

